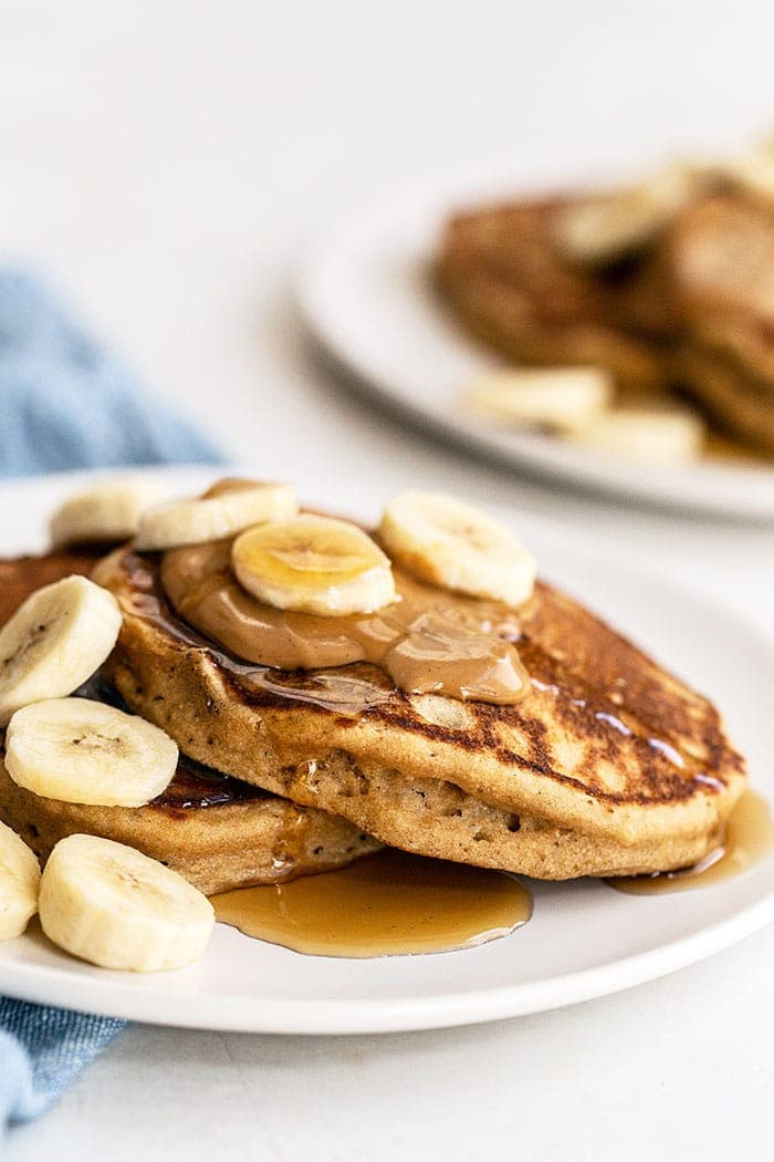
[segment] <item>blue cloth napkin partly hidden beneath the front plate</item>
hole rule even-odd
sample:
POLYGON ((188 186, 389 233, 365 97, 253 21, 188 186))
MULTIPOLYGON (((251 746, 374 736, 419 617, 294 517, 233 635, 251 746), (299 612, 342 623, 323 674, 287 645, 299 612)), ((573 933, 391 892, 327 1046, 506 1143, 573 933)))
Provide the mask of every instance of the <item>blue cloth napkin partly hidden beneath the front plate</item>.
MULTIPOLYGON (((222 460, 19 271, 0 271, 0 475, 222 460)), ((0 997, 0 1138, 43 1113, 123 1024, 0 997)))

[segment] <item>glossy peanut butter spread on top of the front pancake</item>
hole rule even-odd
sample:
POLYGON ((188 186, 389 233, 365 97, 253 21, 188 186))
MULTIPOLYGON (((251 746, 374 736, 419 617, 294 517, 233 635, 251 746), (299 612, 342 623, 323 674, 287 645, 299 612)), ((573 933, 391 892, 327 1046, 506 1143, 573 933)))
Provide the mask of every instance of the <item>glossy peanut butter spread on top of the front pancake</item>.
POLYGON ((530 682, 513 609, 425 584, 393 569, 398 600, 375 614, 319 617, 262 604, 231 572, 231 541, 165 553, 164 590, 182 621, 246 662, 277 670, 378 666, 406 694, 499 705, 530 682))

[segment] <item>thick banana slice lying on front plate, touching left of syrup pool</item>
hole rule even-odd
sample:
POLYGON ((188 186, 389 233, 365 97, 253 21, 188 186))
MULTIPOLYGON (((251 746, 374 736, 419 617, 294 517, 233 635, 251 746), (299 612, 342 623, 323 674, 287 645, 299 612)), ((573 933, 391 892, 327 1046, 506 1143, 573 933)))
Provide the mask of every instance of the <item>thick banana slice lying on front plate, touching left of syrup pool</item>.
POLYGON ((207 896, 176 871, 96 835, 59 840, 43 871, 39 911, 60 948, 133 973, 193 963, 215 925, 207 896))

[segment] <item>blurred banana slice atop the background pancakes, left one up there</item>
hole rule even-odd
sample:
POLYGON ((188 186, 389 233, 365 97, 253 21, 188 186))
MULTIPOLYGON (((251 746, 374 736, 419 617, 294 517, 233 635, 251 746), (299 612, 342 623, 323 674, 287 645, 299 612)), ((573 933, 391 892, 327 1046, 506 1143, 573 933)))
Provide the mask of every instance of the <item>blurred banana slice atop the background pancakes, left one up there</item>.
POLYGON ((696 175, 673 165, 629 189, 573 202, 555 222, 559 250, 573 263, 615 261, 648 245, 696 189, 696 175))

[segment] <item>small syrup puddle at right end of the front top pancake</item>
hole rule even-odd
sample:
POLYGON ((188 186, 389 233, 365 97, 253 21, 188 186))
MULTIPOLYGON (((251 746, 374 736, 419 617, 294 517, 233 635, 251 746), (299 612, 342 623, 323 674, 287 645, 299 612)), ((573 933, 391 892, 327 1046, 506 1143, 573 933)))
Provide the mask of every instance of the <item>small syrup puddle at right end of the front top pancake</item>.
POLYGON ((710 852, 699 863, 679 871, 622 876, 606 882, 616 891, 632 896, 686 891, 690 888, 719 883, 723 880, 733 880, 760 863, 773 851, 774 823, 768 803, 761 795, 747 790, 729 816, 722 846, 710 852))

